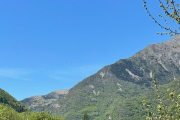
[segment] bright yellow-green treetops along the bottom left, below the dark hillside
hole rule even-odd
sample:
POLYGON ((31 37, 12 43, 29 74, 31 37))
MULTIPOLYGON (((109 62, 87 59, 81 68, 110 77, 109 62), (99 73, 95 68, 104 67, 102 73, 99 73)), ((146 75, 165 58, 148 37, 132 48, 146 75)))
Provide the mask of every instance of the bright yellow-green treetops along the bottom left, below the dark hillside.
POLYGON ((0 120, 64 120, 58 116, 53 116, 45 111, 36 113, 26 111, 18 113, 7 104, 0 104, 0 120))

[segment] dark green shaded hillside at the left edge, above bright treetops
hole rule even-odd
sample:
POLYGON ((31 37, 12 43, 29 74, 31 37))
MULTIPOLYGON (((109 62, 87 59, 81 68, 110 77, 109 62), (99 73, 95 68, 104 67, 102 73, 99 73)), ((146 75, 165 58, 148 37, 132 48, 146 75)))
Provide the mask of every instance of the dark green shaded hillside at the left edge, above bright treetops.
POLYGON ((0 104, 5 104, 12 107, 17 112, 29 111, 29 109, 12 97, 9 93, 0 88, 0 104))

